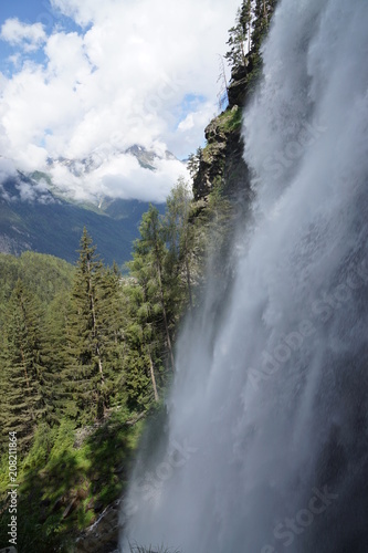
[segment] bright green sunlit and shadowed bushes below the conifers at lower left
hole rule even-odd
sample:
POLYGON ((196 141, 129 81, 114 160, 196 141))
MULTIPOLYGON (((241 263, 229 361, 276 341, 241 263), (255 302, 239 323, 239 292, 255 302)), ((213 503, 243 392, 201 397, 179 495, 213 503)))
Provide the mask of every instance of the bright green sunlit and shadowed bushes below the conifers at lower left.
MULTIPOLYGON (((40 426, 29 453, 19 456, 19 551, 75 551, 75 533, 96 520, 97 505, 105 508, 122 494, 144 424, 129 424, 128 417, 119 409, 104 424, 83 430, 69 419, 62 419, 59 428, 40 426)), ((0 468, 6 477, 7 456, 0 468)), ((1 478, 1 509, 7 505, 7 478, 1 478)), ((8 522, 4 513, 3 544, 8 522)))

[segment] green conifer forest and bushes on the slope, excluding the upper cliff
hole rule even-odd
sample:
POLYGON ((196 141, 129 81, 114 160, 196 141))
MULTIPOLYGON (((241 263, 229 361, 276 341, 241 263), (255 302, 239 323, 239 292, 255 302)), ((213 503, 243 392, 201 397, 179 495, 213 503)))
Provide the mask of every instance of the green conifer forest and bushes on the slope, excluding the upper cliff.
POLYGON ((124 490, 141 417, 162 405, 177 325, 192 306, 190 213, 180 181, 165 217, 154 207, 144 216, 125 279, 103 264, 86 229, 75 268, 0 257, 0 509, 6 437, 17 430, 27 551, 66 551, 96 519, 94 505, 124 490))

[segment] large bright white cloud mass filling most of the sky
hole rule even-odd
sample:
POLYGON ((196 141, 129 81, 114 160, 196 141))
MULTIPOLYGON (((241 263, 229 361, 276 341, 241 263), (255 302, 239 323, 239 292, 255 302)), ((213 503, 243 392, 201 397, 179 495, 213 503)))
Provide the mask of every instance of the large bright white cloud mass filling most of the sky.
POLYGON ((80 197, 108 191, 161 198, 167 179, 177 173, 170 164, 162 161, 155 176, 147 175, 141 167, 123 163, 120 153, 140 144, 168 148, 181 157, 201 144, 203 127, 215 112, 217 54, 225 50, 239 0, 53 0, 52 4, 88 27, 78 34, 62 31, 55 21, 53 33, 45 38, 40 24, 17 22, 18 34, 9 20, 3 25, 9 41, 11 36, 30 45, 44 41, 46 55, 46 63, 23 62, 2 82, 4 155, 30 169, 40 168, 48 156, 82 159, 102 153, 104 169, 93 178, 55 178, 65 179, 64 188, 80 197), (188 96, 197 101, 183 107, 188 96))

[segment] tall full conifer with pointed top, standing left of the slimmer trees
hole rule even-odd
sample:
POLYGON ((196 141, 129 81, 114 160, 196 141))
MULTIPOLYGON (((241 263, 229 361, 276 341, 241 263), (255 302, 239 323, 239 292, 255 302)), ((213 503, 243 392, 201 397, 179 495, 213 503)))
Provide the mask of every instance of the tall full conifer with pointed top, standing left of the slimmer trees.
POLYGON ((105 268, 86 229, 66 313, 65 413, 80 421, 103 418, 122 368, 117 268, 105 268))

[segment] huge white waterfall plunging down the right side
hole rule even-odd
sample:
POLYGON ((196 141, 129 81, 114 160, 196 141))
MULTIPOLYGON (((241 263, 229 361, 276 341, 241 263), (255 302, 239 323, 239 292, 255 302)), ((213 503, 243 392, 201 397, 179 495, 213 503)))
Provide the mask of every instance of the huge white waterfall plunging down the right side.
POLYGON ((244 116, 245 251, 222 320, 209 283, 181 336, 166 452, 132 482, 132 541, 368 551, 367 29, 365 0, 278 4, 244 116))

